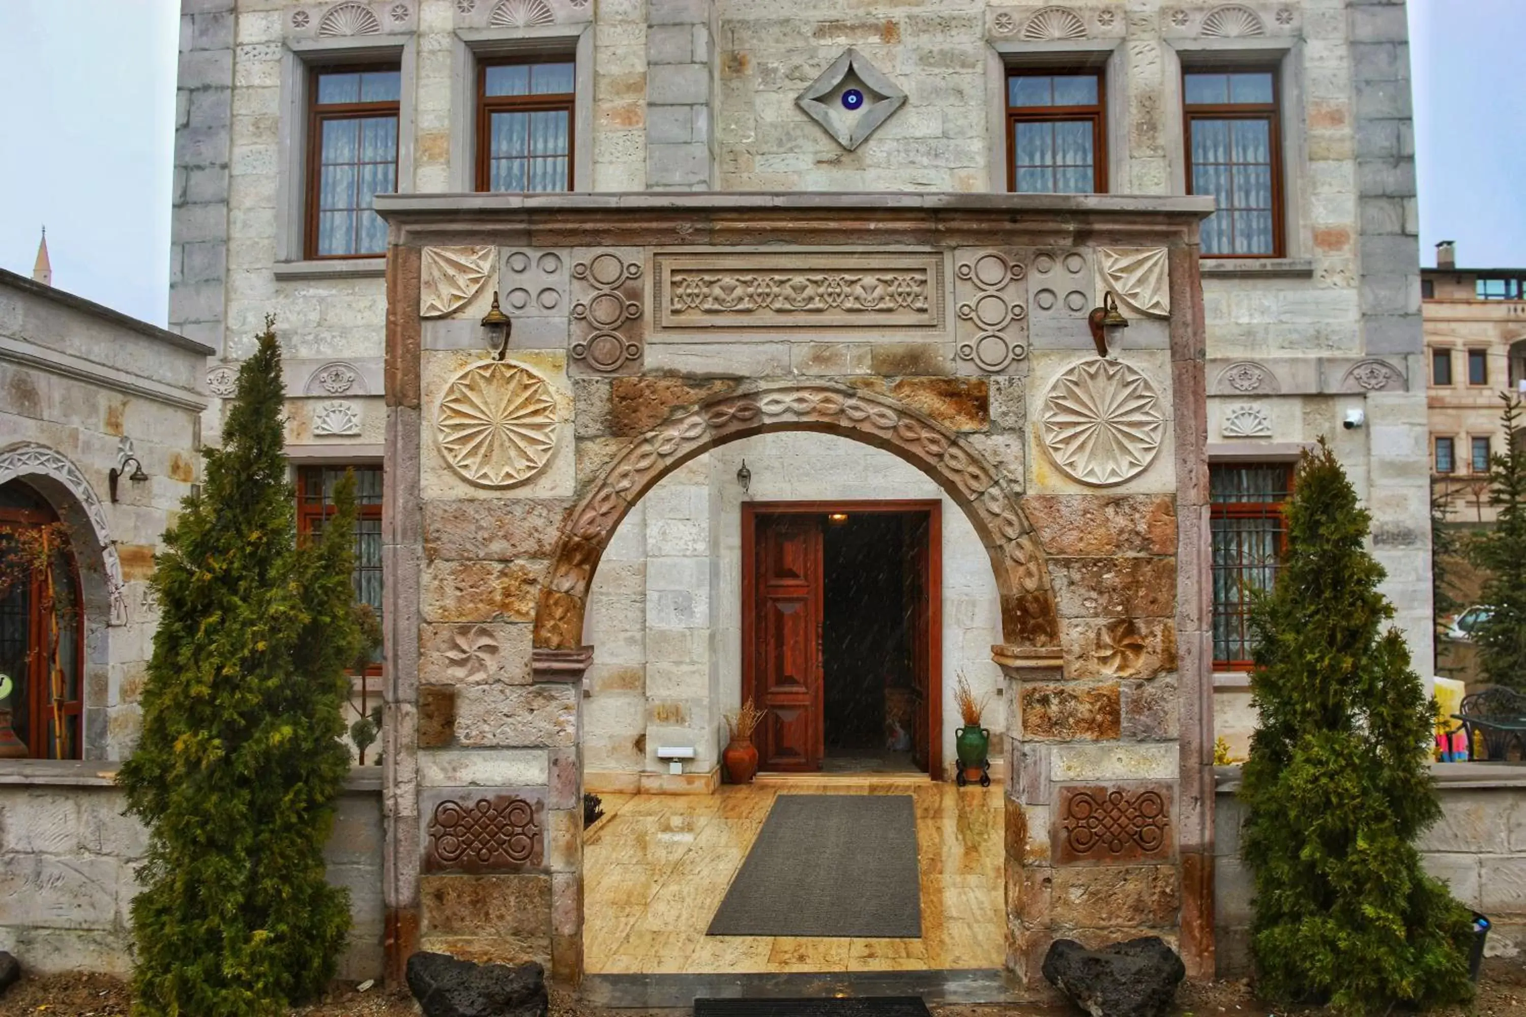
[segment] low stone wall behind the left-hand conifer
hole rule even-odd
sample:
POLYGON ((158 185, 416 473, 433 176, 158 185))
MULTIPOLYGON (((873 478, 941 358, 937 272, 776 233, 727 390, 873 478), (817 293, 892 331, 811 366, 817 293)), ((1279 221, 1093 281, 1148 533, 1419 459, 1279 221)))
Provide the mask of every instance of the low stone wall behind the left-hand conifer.
MULTIPOLYGON (((0 950, 27 971, 127 974, 134 868, 146 833, 124 816, 113 770, 0 765, 0 950)), ((380 767, 354 770, 324 849, 328 881, 349 890, 349 947, 339 977, 382 976, 380 767)))

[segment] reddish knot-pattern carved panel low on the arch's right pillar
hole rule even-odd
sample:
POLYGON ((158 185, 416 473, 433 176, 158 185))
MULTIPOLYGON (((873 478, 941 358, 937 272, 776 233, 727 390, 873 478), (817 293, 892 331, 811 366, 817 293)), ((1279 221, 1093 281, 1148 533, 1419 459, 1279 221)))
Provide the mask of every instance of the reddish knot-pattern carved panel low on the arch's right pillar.
POLYGON ((1061 865, 1169 858, 1170 790, 1166 787, 1061 788, 1054 840, 1054 857, 1061 865))

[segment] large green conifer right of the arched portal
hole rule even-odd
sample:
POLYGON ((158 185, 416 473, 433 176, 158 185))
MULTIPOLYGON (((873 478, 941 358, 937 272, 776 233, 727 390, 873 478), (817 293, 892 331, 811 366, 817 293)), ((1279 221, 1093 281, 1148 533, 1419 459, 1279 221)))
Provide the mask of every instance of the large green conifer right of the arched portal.
POLYGON ((1239 793, 1259 991, 1357 1014, 1471 993, 1470 915, 1413 843, 1441 816, 1434 707, 1384 631, 1369 523, 1329 447, 1306 453, 1282 570, 1251 614, 1259 727, 1239 793))

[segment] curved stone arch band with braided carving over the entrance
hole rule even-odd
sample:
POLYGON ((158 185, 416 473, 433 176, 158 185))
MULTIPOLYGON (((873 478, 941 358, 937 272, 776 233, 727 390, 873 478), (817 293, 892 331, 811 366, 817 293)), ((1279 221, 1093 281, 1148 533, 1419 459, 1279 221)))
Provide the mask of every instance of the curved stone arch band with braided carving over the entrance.
POLYGON ((536 613, 534 645, 575 650, 600 555, 626 512, 690 459, 765 432, 839 435, 894 453, 938 482, 986 546, 1001 595, 1003 640, 1054 646, 1059 625, 1038 534, 998 471, 958 435, 881 395, 829 384, 719 396, 633 439, 568 515, 536 613))

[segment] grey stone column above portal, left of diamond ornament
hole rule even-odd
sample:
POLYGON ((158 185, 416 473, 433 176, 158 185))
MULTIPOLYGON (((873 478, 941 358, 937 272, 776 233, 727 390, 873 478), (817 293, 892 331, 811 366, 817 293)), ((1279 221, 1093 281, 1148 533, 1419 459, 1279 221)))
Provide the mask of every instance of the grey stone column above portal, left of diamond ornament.
POLYGON ((707 0, 647 3, 647 188, 716 186, 716 11, 707 0))

